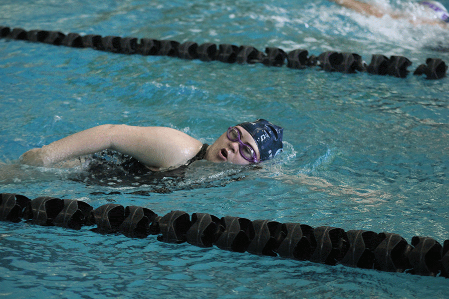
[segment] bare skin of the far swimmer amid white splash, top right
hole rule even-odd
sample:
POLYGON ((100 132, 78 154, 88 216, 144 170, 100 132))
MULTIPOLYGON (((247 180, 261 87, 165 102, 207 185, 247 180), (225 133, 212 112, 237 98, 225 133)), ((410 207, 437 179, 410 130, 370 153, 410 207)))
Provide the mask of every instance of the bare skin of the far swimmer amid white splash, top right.
POLYGON ((335 2, 343 7, 350 8, 356 12, 359 12, 361 14, 364 14, 366 16, 376 16, 376 17, 383 17, 384 15, 389 15, 392 18, 399 19, 404 18, 408 19, 412 24, 430 24, 430 25, 439 25, 441 27, 446 28, 447 24, 439 19, 435 18, 412 18, 410 15, 404 15, 400 13, 394 13, 392 11, 388 11, 387 9, 384 9, 381 6, 365 3, 358 0, 330 0, 332 2, 335 2))

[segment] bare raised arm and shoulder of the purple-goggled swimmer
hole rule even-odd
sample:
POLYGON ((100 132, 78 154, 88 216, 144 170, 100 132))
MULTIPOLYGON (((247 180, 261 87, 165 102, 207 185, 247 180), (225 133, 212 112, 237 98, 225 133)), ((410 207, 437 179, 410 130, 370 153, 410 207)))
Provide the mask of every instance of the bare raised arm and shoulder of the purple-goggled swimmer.
POLYGON ((101 125, 87 129, 21 156, 23 164, 49 166, 103 149, 133 156, 151 169, 178 166, 202 147, 195 138, 172 128, 101 125))

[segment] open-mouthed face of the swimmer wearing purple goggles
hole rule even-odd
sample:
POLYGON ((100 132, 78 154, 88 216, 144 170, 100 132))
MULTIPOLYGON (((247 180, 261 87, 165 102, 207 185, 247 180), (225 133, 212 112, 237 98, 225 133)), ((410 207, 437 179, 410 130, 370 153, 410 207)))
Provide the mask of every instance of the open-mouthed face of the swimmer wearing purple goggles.
MULTIPOLYGON (((249 145, 255 152, 257 160, 260 160, 259 149, 252 136, 240 126, 235 126, 240 133, 242 143, 249 145)), ((230 162, 232 164, 247 165, 250 161, 245 159, 239 150, 238 141, 230 141, 227 138, 227 132, 220 136, 215 143, 210 146, 206 152, 206 159, 213 162, 230 162)))

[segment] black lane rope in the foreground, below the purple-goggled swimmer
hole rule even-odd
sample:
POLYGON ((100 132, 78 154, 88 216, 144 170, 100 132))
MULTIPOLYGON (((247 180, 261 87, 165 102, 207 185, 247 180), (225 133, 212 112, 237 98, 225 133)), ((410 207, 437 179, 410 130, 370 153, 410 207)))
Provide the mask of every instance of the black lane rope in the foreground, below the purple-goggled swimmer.
POLYGON ((88 203, 51 196, 33 200, 20 194, 0 193, 0 221, 26 220, 41 226, 60 226, 131 238, 158 235, 157 240, 199 247, 299 261, 387 272, 406 272, 449 278, 449 240, 443 246, 430 237, 414 236, 411 244, 398 234, 367 230, 344 231, 300 223, 171 211, 158 216, 138 206, 109 203, 96 209, 88 203))

